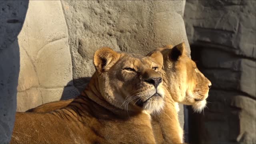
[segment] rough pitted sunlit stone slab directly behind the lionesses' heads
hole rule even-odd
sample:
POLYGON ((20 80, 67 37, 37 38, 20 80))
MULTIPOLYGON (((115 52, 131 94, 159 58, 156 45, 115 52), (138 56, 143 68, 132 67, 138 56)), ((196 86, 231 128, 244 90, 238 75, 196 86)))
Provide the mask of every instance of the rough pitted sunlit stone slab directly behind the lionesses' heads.
MULTIPOLYGON (((189 45, 182 1, 62 1, 69 31, 73 78, 94 73, 92 56, 102 47, 147 54, 165 44, 189 45)), ((79 79, 79 80, 76 80, 79 79)))

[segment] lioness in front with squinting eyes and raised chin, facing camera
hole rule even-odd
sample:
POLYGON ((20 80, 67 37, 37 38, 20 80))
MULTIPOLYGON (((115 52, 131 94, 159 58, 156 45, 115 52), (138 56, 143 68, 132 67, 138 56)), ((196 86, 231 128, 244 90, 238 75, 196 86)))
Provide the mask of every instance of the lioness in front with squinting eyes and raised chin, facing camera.
POLYGON ((162 63, 160 52, 97 50, 84 92, 53 112, 17 112, 11 143, 156 143, 149 113, 164 107, 162 63))

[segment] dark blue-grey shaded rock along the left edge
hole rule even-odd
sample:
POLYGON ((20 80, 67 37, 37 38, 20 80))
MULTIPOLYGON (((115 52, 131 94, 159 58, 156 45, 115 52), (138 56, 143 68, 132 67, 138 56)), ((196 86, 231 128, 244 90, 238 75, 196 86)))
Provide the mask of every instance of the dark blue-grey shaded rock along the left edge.
POLYGON ((15 120, 20 50, 17 36, 28 1, 0 1, 0 143, 9 143, 15 120))

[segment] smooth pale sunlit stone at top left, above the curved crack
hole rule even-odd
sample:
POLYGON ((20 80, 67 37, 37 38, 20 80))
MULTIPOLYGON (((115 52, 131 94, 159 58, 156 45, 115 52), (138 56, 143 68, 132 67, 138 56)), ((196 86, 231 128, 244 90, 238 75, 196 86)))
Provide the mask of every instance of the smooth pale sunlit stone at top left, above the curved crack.
POLYGON ((20 43, 28 43, 28 56, 36 60, 38 52, 48 43, 68 36, 60 1, 32 0, 26 15, 20 43), (26 38, 25 38, 26 37, 26 38))

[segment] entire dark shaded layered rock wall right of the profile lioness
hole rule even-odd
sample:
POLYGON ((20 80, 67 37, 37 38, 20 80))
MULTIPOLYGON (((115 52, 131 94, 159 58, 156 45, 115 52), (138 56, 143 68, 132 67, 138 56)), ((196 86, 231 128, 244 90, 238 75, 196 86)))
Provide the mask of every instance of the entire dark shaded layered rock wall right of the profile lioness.
POLYGON ((190 115, 194 144, 256 143, 255 8, 256 1, 186 2, 191 56, 212 82, 204 115, 190 115))

